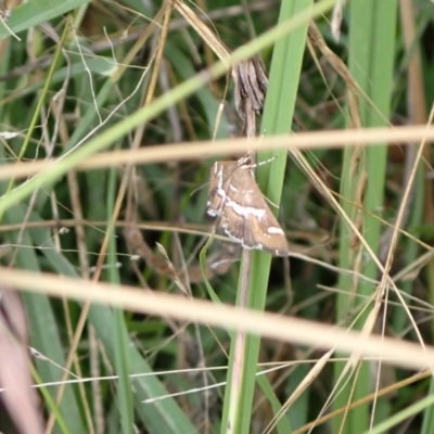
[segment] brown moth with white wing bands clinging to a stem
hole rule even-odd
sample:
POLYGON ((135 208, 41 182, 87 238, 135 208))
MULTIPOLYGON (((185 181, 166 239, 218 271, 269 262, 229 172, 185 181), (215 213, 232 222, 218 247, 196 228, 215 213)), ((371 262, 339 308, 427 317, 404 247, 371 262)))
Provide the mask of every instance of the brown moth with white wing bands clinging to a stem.
POLYGON ((245 248, 277 256, 290 254, 282 228, 267 205, 250 157, 216 162, 210 168, 207 214, 219 217, 225 233, 245 248))

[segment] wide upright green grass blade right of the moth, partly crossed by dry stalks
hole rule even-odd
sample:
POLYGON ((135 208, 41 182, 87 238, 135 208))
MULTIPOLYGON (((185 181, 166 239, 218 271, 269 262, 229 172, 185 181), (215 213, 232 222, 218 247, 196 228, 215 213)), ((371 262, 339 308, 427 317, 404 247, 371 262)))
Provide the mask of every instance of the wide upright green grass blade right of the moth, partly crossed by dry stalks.
MULTIPOLYGON (((391 98, 393 86, 393 66, 395 59, 395 34, 397 2, 378 2, 375 0, 360 1, 355 0, 349 3, 350 25, 349 25, 349 69, 353 77, 357 80, 360 88, 366 92, 369 102, 363 95, 359 95, 360 115, 363 127, 385 126, 388 124, 391 112, 391 98), (367 26, 367 23, 370 23, 367 26), (375 108, 376 107, 376 108, 375 108), (379 113, 380 112, 380 113, 379 113)), ((363 206, 368 212, 378 213, 383 206, 385 169, 386 169, 386 146, 370 146, 369 149, 354 149, 346 152, 343 167, 343 189, 342 193, 350 202, 355 201, 357 189, 360 189, 359 180, 363 182, 365 173, 367 175, 367 184, 363 206), (359 176, 355 174, 352 166, 354 153, 361 152, 359 162, 359 176)), ((354 215, 354 209, 343 203, 344 209, 348 215, 354 215)), ((381 224, 373 217, 365 216, 363 237, 372 247, 378 252, 381 224)), ((357 253, 349 246, 350 235, 347 228, 341 226, 341 245, 340 245, 340 267, 342 269, 354 269, 357 253)), ((363 257, 363 256, 362 256, 363 257)), ((376 266, 368 261, 363 267, 363 276, 370 279, 376 278, 376 266)), ((344 291, 354 291, 352 279, 342 277, 340 288, 344 291)), ((361 295, 371 295, 374 288, 370 284, 359 283, 357 293, 361 295)), ((341 294, 337 299, 336 322, 342 322, 347 318, 349 295, 341 294)), ((354 307, 354 306, 353 306, 354 307)), ((367 314, 367 312, 366 312, 367 314)), ((356 327, 361 327, 366 320, 362 316, 356 327)), ((343 363, 335 366, 335 380, 343 369, 343 363)), ((367 362, 362 363, 358 371, 356 384, 353 387, 353 380, 348 382, 345 391, 342 391, 335 400, 335 408, 344 407, 349 400, 358 399, 368 395, 370 385, 370 369, 367 362)), ((369 426, 371 419, 368 405, 359 406, 350 411, 345 421, 344 431, 360 432, 369 426)), ((343 418, 339 417, 333 421, 334 432, 342 430, 343 418)))

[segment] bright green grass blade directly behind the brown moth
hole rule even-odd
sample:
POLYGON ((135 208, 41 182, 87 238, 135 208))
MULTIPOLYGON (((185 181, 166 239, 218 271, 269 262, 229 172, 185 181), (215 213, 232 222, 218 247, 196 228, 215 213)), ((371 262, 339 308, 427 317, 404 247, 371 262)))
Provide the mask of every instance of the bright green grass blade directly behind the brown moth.
MULTIPOLYGON (((306 12, 312 2, 292 1, 283 2, 280 11, 280 23, 297 16, 303 11, 306 12)), ((305 50, 308 21, 299 26, 290 36, 282 38, 276 44, 272 58, 272 64, 269 76, 269 86, 265 103, 261 131, 266 135, 277 135, 290 132, 292 124, 292 114, 294 111, 295 98, 298 88, 299 72, 305 50), (276 78, 275 78, 276 77, 276 78)), ((286 151, 276 151, 278 156, 270 165, 263 165, 258 168, 258 183, 265 194, 273 202, 280 202, 282 192, 284 168, 286 163, 286 151), (272 170, 270 166, 272 165, 272 170), (268 167, 267 167, 268 166, 268 167)), ((269 153, 261 153, 259 161, 270 156, 269 153)), ((270 271, 271 256, 261 252, 253 252, 251 268, 251 286, 248 290, 248 307, 264 310, 268 289, 268 276, 270 271)), ((241 286, 238 294, 240 296, 241 286)), ((237 301, 240 303, 240 299, 237 301)), ((233 354, 235 341, 232 340, 231 357, 229 365, 229 374, 233 372, 233 354)), ((238 405, 238 414, 240 414, 234 433, 248 433, 252 420, 252 403, 256 383, 257 360, 260 346, 260 336, 245 337, 244 344, 244 366, 243 378, 240 391, 239 403, 230 403, 230 395, 225 396, 224 420, 221 432, 228 423, 230 406, 238 405)), ((231 390, 230 381, 227 391, 231 390)))

